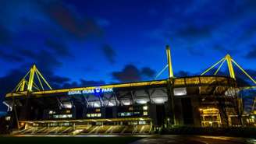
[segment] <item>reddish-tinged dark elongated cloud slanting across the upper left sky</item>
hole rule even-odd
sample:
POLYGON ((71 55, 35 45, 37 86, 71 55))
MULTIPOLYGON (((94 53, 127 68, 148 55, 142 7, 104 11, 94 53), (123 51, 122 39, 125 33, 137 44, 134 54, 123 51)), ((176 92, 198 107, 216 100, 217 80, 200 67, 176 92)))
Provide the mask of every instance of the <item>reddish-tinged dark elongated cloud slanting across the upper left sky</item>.
POLYGON ((43 11, 55 23, 76 38, 101 37, 103 34, 101 26, 94 19, 80 16, 62 2, 42 3, 41 5, 43 5, 43 11))

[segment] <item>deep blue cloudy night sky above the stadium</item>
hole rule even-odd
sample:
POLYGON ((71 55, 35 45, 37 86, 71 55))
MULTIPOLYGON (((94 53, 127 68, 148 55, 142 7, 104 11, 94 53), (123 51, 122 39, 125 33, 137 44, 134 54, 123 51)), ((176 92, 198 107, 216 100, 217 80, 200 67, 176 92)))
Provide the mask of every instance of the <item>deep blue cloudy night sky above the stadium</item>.
POLYGON ((229 53, 256 77, 255 0, 2 0, 0 18, 1 100, 32 64, 55 88, 154 79, 166 44, 176 76, 229 53))

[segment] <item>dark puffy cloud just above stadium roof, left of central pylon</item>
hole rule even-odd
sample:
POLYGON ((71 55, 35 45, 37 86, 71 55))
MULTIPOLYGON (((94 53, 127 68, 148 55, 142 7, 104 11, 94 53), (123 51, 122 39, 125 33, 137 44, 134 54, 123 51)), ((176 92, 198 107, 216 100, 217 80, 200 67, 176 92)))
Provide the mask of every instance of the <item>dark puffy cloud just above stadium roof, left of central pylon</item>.
POLYGON ((120 72, 112 72, 112 78, 121 83, 137 82, 155 76, 155 71, 145 67, 137 68, 135 65, 126 65, 120 72))

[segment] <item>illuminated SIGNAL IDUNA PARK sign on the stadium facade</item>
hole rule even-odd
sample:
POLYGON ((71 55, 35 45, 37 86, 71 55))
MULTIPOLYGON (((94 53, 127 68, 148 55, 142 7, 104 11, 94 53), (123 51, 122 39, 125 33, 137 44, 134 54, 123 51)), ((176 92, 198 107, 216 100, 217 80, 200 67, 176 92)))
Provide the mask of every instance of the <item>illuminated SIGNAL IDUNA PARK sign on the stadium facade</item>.
POLYGON ((113 88, 100 88, 100 87, 97 87, 97 88, 91 89, 91 90, 74 90, 74 91, 69 91, 68 95, 94 94, 94 93, 111 93, 111 92, 113 92, 113 88))

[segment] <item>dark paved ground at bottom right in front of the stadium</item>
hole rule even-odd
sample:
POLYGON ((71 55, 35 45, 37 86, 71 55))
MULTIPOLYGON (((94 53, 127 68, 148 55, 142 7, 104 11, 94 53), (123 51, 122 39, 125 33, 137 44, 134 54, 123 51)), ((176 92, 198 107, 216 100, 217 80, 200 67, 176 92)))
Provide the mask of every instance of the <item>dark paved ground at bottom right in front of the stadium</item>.
POLYGON ((132 144, 256 144, 256 139, 200 135, 155 135, 132 144))

